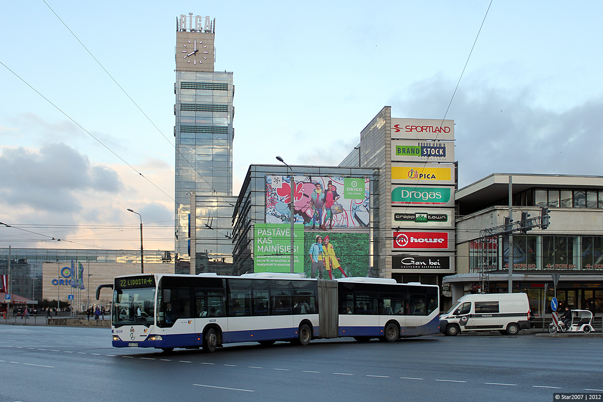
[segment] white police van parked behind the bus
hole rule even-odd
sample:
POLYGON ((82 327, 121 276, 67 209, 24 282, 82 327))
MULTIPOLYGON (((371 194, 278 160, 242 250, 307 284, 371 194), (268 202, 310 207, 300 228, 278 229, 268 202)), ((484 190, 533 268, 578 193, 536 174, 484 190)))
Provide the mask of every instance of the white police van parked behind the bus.
POLYGON ((440 315, 440 332, 455 336, 466 331, 500 331, 516 335, 528 329, 529 304, 525 293, 464 295, 440 315))

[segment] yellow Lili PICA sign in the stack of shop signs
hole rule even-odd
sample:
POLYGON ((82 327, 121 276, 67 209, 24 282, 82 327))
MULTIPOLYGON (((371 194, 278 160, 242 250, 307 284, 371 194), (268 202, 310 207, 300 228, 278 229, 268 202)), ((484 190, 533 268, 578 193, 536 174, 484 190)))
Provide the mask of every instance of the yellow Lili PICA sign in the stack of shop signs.
POLYGON ((391 163, 391 183, 455 184, 455 166, 441 163, 391 163))

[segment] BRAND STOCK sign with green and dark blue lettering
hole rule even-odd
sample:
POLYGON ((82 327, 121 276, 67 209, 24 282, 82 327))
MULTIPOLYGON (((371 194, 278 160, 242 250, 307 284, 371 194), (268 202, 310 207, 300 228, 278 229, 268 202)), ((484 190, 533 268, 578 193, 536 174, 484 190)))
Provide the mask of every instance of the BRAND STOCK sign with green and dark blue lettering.
POLYGON ((454 162, 453 142, 391 140, 393 162, 454 162))

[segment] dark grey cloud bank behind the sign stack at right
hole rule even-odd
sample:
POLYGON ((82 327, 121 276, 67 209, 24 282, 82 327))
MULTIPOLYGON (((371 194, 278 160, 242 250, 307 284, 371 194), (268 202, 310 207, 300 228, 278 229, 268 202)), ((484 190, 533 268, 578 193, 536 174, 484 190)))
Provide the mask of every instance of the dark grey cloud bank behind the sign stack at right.
MULTIPOLYGON (((420 81, 391 101, 393 117, 441 119, 455 83, 420 81)), ((492 173, 599 174, 603 97, 566 110, 534 104, 529 88, 513 93, 461 81, 446 119, 455 121, 459 186, 492 173)))

